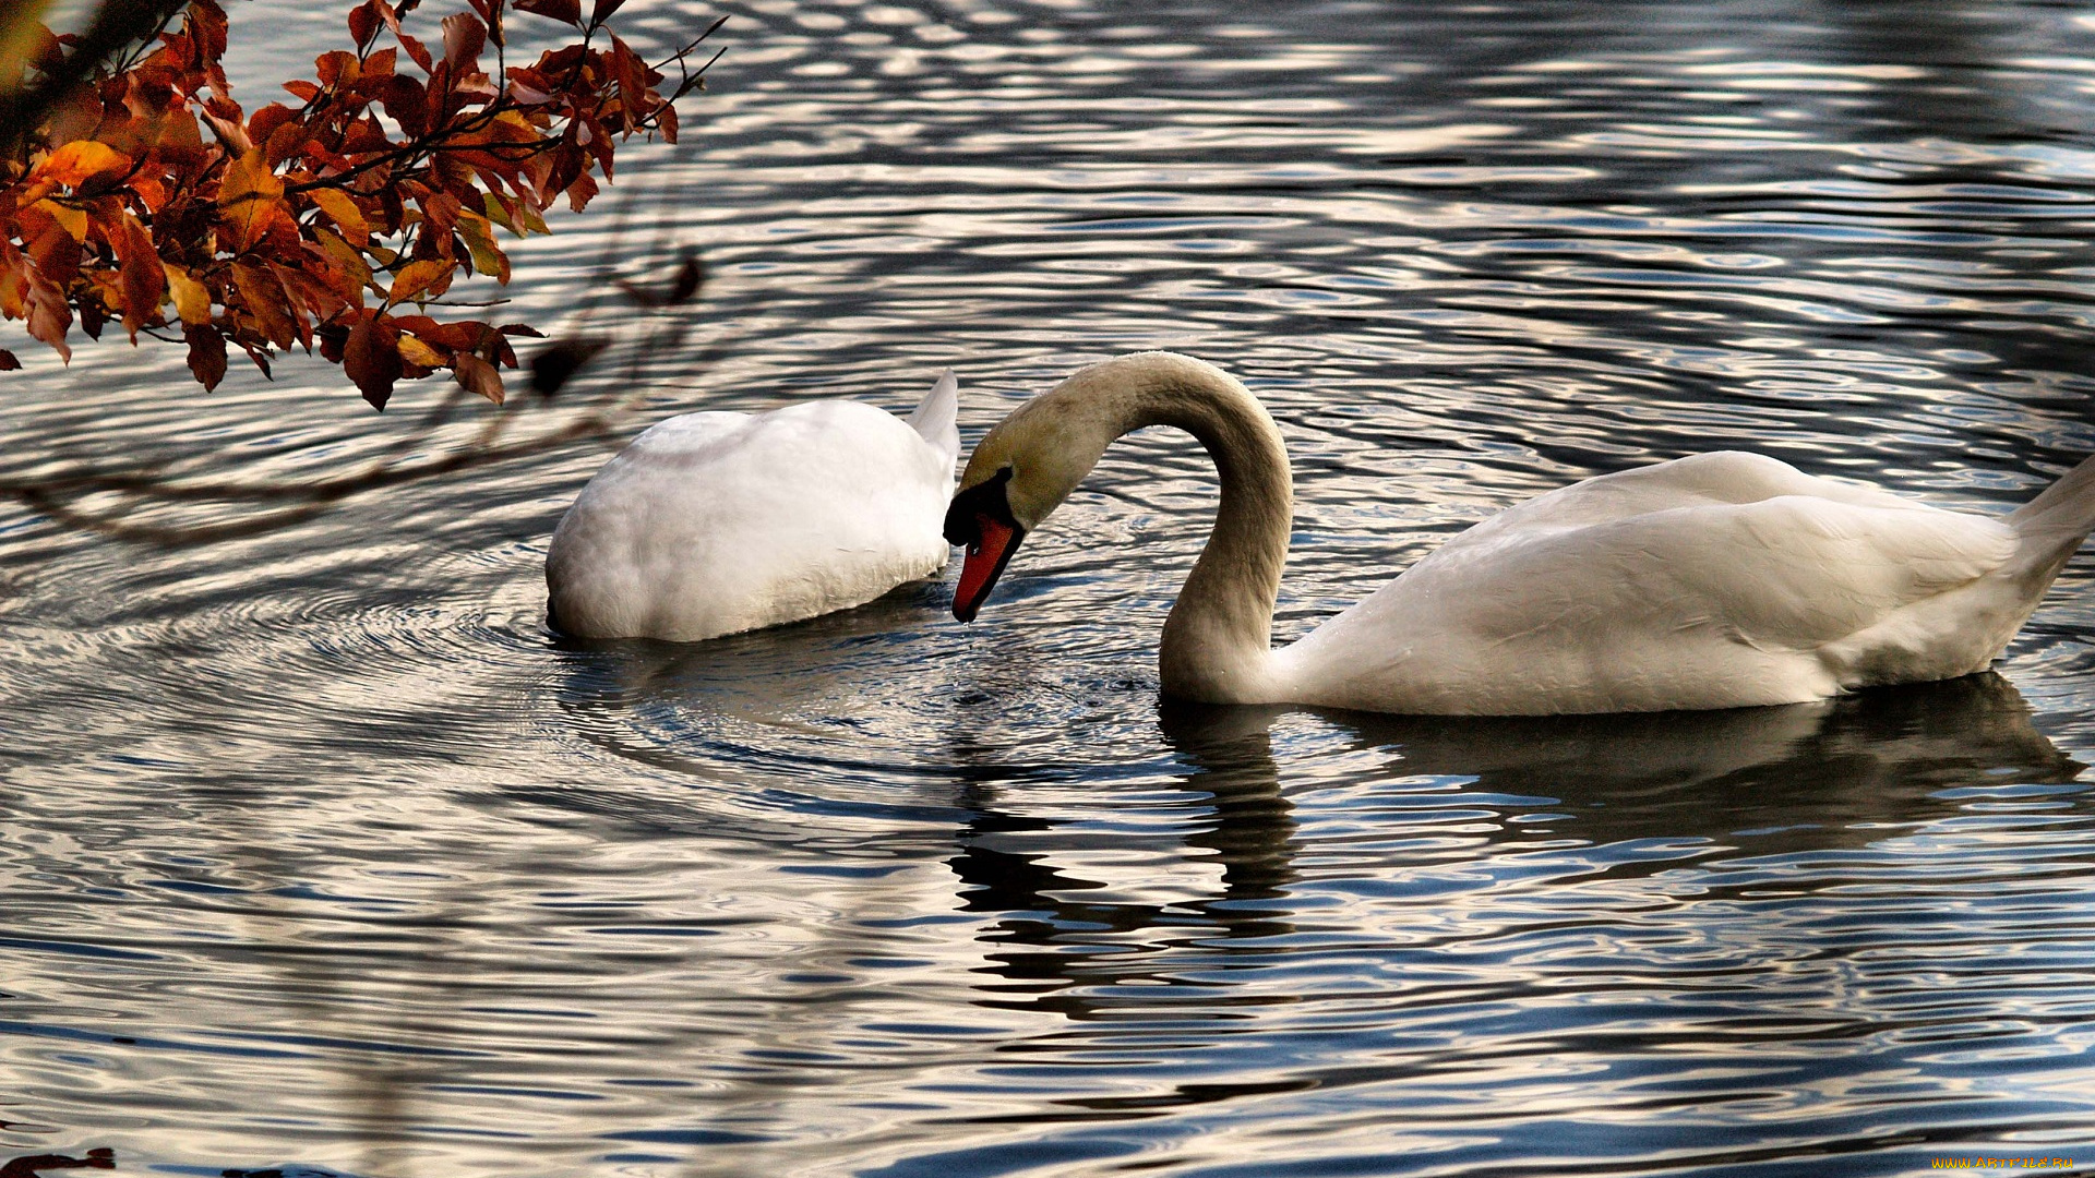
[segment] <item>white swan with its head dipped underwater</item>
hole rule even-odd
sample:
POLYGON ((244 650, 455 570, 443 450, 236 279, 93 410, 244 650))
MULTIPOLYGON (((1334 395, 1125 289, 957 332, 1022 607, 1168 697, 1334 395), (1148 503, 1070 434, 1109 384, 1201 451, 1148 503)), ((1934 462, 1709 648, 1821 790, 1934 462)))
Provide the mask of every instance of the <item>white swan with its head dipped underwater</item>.
POLYGON ((857 400, 658 421, 553 530, 553 625, 698 641, 863 606, 939 572, 957 400, 945 373, 907 423, 857 400))

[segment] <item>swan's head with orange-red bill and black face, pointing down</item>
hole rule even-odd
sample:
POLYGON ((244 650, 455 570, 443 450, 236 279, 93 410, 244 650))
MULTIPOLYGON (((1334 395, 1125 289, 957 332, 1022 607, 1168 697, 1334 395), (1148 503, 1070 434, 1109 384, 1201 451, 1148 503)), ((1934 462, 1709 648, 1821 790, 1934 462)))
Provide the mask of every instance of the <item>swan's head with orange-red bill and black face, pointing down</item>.
MULTIPOLYGON (((1108 361, 1110 365, 1110 361, 1108 361)), ((1098 465, 1117 421, 1100 413, 1094 365, 997 421, 968 455, 945 511, 945 539, 968 549, 953 616, 972 623, 1018 543, 1098 465)))

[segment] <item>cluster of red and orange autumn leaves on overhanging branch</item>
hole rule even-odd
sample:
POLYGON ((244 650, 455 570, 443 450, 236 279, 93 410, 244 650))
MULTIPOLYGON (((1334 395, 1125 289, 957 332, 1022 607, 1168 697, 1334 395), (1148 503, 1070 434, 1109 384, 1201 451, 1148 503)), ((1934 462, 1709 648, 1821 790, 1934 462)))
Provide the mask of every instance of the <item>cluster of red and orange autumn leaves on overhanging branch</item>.
MULTIPOLYGON (((467 0, 473 15, 444 19, 440 59, 400 27, 417 0, 344 4, 354 52, 323 52, 316 80, 287 82, 295 109, 243 115, 233 101, 220 0, 189 0, 180 27, 134 57, 82 61, 17 161, 0 161, 0 314, 61 356, 75 319, 90 337, 122 319, 134 342, 180 323, 205 388, 224 379, 233 348, 268 373, 279 350, 318 344, 375 407, 400 379, 440 369, 501 402, 499 369, 517 365, 509 335, 528 327, 390 310, 429 306, 461 272, 507 283, 494 226, 547 233, 555 199, 578 210, 610 182, 614 140, 672 138, 672 99, 624 40, 597 36, 624 0, 591 0, 587 36, 501 78, 480 59, 503 44, 503 0, 467 0), (398 48, 379 44, 388 34, 398 48), (400 54, 427 80, 398 73, 400 54)), ((515 6, 582 29, 580 0, 515 6)), ((25 21, 36 36, 23 84, 84 52, 25 21)), ((672 54, 679 67, 691 46, 672 54)), ((683 69, 672 96, 702 73, 683 69)), ((672 281, 660 298, 687 291, 696 281, 672 281)), ((0 358, 0 371, 19 367, 0 358)), ((555 367, 534 363, 553 375, 545 388, 564 379, 555 367)))

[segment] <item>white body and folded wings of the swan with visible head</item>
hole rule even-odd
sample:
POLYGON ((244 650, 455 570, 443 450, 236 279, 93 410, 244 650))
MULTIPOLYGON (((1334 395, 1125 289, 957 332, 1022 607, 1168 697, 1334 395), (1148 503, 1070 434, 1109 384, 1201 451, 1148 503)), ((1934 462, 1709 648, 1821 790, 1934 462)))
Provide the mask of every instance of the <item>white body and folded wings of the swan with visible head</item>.
POLYGON ((2005 522, 1703 459, 1492 518, 1282 658, 1311 702, 1569 713, 1798 702, 1999 650, 1982 648, 2005 522))

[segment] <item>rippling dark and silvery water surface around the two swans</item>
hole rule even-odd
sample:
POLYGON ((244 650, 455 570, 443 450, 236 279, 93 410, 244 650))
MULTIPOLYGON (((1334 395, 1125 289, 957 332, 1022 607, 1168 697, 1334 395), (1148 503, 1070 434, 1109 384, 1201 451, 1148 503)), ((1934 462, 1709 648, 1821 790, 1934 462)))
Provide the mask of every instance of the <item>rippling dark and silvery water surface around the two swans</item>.
MULTIPOLYGON (((951 365, 972 442, 1079 363, 1194 352, 1297 461, 1282 637, 1647 459, 1745 446, 1999 509, 2095 451, 2072 6, 622 17, 666 44, 714 10, 712 90, 612 241, 698 243, 714 281, 681 348, 585 377, 645 392, 626 434, 905 407, 951 365)), ((333 21, 235 6, 241 96, 333 21)), ((520 247, 520 317, 601 289, 618 208, 520 247)), ((415 442, 425 390, 379 419, 287 365, 201 396, 107 344, 6 379, 0 476, 297 478, 486 419, 415 442)), ((972 627, 920 585, 691 648, 543 627, 545 539, 601 461, 189 549, 0 507, 0 1157, 2095 1163, 2089 558, 1999 677, 1827 706, 1165 711, 1156 629, 1213 501, 1184 438, 1115 449, 972 627)))

